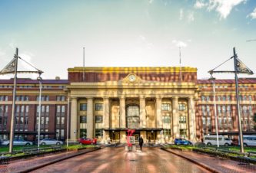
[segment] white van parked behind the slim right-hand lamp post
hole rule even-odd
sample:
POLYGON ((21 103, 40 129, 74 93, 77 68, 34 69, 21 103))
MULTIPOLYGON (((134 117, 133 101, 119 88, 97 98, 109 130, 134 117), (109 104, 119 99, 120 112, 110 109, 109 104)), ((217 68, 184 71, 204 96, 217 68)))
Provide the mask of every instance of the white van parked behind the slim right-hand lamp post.
MULTIPOLYGON (((231 145, 231 139, 224 137, 224 135, 218 135, 218 144, 219 145, 231 145)), ((204 136, 205 145, 217 145, 217 135, 205 135, 204 136)))

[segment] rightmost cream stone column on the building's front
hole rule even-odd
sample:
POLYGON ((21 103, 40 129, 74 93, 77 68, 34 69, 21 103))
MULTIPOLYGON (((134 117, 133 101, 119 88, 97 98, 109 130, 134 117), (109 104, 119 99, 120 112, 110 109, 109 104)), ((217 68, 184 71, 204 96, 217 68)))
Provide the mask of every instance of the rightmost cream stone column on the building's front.
POLYGON ((190 140, 195 141, 195 134, 196 134, 196 128, 195 128, 195 112, 194 112, 194 97, 190 96, 188 98, 188 116, 189 116, 189 136, 190 140))

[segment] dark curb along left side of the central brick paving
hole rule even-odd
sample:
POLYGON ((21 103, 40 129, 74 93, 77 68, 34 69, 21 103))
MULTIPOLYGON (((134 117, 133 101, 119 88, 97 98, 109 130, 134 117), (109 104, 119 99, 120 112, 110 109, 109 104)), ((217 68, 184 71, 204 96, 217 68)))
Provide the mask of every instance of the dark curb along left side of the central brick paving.
POLYGON ((77 153, 77 154, 74 154, 74 155, 68 155, 68 156, 63 157, 63 158, 56 158, 56 159, 54 159, 54 160, 52 160, 52 161, 50 161, 50 162, 45 162, 45 163, 43 163, 43 164, 41 164, 41 165, 36 165, 36 166, 34 166, 34 167, 31 167, 31 168, 26 168, 26 169, 24 169, 24 170, 22 170, 22 171, 14 171, 14 173, 16 173, 16 172, 17 172, 17 173, 18 173, 18 172, 20 172, 20 173, 25 173, 25 172, 28 172, 28 171, 35 171, 35 170, 38 169, 38 168, 42 168, 42 167, 45 167, 45 166, 48 166, 48 165, 52 165, 52 164, 55 164, 55 163, 57 163, 57 162, 61 162, 61 161, 65 160, 65 159, 73 158, 73 157, 76 157, 76 156, 78 156, 78 155, 83 155, 83 154, 88 153, 88 152, 95 152, 95 151, 97 151, 98 149, 101 149, 101 148, 91 149, 91 150, 89 150, 89 151, 80 152, 80 153, 77 153))

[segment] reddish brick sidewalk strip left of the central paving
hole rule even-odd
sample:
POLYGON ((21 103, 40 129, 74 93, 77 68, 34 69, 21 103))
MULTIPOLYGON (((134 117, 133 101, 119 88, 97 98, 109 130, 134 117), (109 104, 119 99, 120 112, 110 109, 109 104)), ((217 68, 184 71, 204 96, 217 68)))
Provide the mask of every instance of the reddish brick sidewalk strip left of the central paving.
POLYGON ((27 172, 33 168, 50 165, 54 162, 59 162, 66 158, 71 158, 76 155, 82 155, 95 149, 85 149, 78 152, 61 152, 58 154, 48 154, 43 156, 35 156, 32 158, 23 158, 9 162, 8 165, 0 165, 0 172, 27 172))

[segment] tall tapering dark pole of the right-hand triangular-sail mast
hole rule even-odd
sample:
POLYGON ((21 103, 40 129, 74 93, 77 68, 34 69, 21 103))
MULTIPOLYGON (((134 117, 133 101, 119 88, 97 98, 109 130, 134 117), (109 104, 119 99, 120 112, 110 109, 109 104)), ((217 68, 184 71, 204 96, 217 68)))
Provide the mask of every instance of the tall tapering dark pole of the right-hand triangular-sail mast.
POLYGON ((233 48, 234 52, 234 80, 235 80, 235 94, 237 97, 237 111, 238 111, 238 131, 239 131, 239 142, 240 142, 240 152, 244 153, 244 140, 243 140, 243 132, 241 126, 241 114, 240 114, 240 106, 239 106, 239 91, 238 91, 238 67, 237 67, 237 54, 235 53, 235 47, 233 48))

